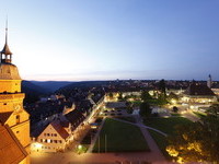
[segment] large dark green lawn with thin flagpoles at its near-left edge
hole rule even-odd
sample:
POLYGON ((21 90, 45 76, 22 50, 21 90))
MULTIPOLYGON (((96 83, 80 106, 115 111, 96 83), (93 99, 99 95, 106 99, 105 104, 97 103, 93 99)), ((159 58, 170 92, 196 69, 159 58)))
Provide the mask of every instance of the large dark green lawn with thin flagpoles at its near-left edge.
MULTIPOLYGON (((100 152, 105 152, 105 136, 107 152, 150 151, 140 129, 134 125, 106 118, 100 133, 100 152)), ((99 139, 93 152, 99 152, 99 139)))

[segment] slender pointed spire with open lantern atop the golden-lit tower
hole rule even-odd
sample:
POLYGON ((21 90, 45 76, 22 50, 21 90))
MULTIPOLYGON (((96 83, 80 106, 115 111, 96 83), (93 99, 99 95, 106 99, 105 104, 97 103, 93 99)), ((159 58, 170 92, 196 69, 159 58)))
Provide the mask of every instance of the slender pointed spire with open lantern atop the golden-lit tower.
POLYGON ((5 21, 5 44, 3 49, 1 50, 1 62, 11 62, 12 59, 12 52, 9 49, 8 46, 8 16, 7 16, 7 21, 5 21))

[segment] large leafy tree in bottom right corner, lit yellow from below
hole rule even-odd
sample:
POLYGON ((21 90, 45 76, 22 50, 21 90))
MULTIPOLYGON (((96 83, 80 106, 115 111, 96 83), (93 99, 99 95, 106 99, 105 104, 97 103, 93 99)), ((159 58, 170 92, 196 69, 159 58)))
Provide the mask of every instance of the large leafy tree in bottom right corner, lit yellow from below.
POLYGON ((219 162, 219 117, 208 115, 201 121, 182 125, 169 137, 166 151, 178 163, 219 162))

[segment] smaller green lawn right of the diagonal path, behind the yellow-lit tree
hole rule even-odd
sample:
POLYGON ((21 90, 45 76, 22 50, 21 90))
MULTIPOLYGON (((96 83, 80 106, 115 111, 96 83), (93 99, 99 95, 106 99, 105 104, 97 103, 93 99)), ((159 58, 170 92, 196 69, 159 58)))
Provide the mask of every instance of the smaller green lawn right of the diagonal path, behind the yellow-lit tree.
POLYGON ((191 124, 192 121, 184 117, 169 117, 169 118, 148 118, 145 119, 145 125, 159 129, 168 134, 174 133, 174 127, 177 125, 191 124))

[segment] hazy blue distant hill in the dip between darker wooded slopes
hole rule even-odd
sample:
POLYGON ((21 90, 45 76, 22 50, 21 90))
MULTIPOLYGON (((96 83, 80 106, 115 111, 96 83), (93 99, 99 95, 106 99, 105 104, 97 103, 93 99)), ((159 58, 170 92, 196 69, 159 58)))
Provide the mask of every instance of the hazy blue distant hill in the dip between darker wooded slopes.
POLYGON ((72 82, 69 81, 31 81, 33 84, 46 89, 47 91, 54 93, 56 90, 64 87, 72 82))

